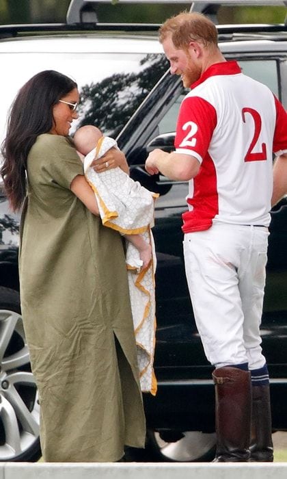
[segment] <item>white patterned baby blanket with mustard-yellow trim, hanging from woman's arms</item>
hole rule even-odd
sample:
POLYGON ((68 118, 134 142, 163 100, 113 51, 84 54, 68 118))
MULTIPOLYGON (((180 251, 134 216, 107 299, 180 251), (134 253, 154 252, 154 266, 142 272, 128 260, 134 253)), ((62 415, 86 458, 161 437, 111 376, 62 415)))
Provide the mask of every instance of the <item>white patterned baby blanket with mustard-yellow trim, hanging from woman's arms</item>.
POLYGON ((118 147, 113 138, 100 138, 96 148, 84 159, 84 172, 96 195, 102 224, 123 235, 142 234, 146 242, 152 245, 152 261, 148 268, 141 271, 142 261, 139 252, 126 240, 128 287, 141 390, 155 395, 156 378, 153 361, 156 329, 154 300, 156 255, 151 227, 154 222, 154 198, 158 195, 146 190, 139 182, 133 181, 120 168, 112 168, 98 174, 90 167, 94 159, 105 155, 112 147, 118 147))

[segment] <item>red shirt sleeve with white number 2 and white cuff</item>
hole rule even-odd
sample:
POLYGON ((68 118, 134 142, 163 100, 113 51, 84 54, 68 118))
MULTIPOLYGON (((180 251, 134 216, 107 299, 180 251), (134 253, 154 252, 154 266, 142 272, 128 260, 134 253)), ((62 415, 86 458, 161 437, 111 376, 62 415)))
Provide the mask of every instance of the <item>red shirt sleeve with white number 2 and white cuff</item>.
POLYGON ((203 159, 216 125, 215 107, 199 96, 187 96, 178 115, 174 142, 176 151, 203 159))

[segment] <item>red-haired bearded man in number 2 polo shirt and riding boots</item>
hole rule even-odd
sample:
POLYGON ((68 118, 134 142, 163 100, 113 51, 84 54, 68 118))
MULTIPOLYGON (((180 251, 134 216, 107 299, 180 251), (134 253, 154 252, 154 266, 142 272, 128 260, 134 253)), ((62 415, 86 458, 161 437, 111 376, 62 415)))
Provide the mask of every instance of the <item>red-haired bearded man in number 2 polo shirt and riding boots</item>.
POLYGON ((266 86, 226 62, 205 16, 169 18, 160 41, 171 73, 191 91, 180 107, 176 151, 152 151, 146 170, 189 180, 184 262, 197 328, 215 365, 215 461, 271 462, 269 374, 259 327, 272 159, 273 152, 279 163, 287 159, 287 115, 266 86))

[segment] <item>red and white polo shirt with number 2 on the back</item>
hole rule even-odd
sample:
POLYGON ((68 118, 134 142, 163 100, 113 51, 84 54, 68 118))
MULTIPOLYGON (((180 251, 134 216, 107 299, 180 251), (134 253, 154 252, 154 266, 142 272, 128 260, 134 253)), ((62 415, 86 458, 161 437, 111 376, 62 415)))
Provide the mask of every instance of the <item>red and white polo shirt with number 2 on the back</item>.
POLYGON ((287 114, 236 62, 210 66, 180 106, 176 153, 196 157, 184 233, 215 221, 269 225, 273 153, 287 153, 287 114))

